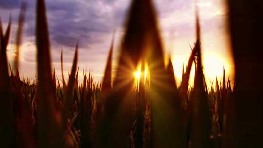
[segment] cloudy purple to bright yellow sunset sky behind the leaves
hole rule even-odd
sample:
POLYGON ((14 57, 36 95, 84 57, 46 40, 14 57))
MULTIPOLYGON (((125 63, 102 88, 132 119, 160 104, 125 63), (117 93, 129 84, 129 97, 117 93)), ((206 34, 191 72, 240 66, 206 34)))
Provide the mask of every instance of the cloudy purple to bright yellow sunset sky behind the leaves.
MULTIPOLYGON (((22 0, 0 0, 0 16, 5 29, 12 16, 8 60, 13 63, 19 8, 22 0)), ((36 71, 35 4, 28 3, 20 51, 20 75, 34 79, 36 71)), ((61 78, 60 53, 63 49, 64 74, 71 69, 75 45, 79 41, 78 65, 90 71, 96 81, 103 77, 113 31, 115 31, 113 67, 116 65, 120 38, 131 0, 45 0, 51 42, 52 66, 61 78)), ((171 54, 177 83, 183 63, 187 63, 195 41, 197 5, 201 23, 201 43, 207 84, 217 76, 234 79, 234 64, 227 31, 224 0, 153 0, 165 53, 171 54)), ((81 79, 82 73, 79 74, 81 79)), ((191 74, 193 77, 193 73, 191 74)))

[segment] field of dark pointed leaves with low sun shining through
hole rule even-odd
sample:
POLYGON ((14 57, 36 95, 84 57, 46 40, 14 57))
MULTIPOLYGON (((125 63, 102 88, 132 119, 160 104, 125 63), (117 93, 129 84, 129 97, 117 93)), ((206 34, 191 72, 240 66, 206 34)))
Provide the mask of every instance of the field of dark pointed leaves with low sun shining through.
MULTIPOLYGON (((183 70, 180 86, 177 86, 171 59, 165 64, 162 39, 151 0, 132 1, 116 77, 112 79, 112 43, 102 83, 95 82, 92 74, 79 71, 78 43, 67 82, 61 53, 62 83, 58 80, 51 67, 44 0, 37 0, 36 3, 37 78, 33 83, 21 79, 19 75, 19 54, 16 55, 14 66, 8 64, 6 50, 11 22, 5 32, 0 27, 1 148, 262 146, 260 94, 263 66, 259 58, 262 53, 246 51, 252 45, 257 45, 242 28, 242 25, 245 27, 248 24, 240 25, 239 19, 233 15, 241 8, 236 8, 229 0, 229 26, 236 64, 235 86, 231 86, 225 70, 222 83, 216 79, 215 88, 213 85, 207 86, 203 73, 198 9, 196 42, 183 70), (240 34, 244 34, 246 39, 240 34), (247 44, 242 46, 239 41, 247 44), (244 59, 250 61, 244 62, 244 59), (140 73, 134 76, 138 65, 141 67, 140 73), (189 86, 192 65, 195 67, 194 84, 189 86), (254 65, 254 69, 249 68, 251 65, 254 65), (81 82, 78 80, 79 73, 84 75, 81 82)), ((16 37, 17 53, 25 11, 24 3, 16 37)), ((253 16, 252 12, 250 14, 253 16)), ((257 25, 255 27, 259 28, 257 25)), ((258 32, 251 32, 259 35, 258 32)))

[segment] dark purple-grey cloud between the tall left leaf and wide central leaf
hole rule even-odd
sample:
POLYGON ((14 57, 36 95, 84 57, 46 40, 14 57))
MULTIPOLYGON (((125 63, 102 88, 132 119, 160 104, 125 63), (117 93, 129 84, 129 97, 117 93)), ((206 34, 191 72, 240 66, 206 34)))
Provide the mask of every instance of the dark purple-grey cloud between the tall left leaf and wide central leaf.
POLYGON ((91 43, 102 41, 99 39, 101 34, 110 33, 114 27, 120 26, 114 23, 115 12, 122 11, 112 9, 115 2, 48 0, 47 16, 52 43, 55 46, 75 47, 75 42, 80 40, 81 47, 87 47, 91 43))

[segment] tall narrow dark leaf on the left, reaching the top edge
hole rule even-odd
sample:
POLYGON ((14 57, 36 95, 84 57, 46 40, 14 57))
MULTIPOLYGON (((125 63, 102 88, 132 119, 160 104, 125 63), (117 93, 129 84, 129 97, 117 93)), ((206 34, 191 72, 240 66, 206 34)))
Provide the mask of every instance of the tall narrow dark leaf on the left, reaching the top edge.
POLYGON ((50 43, 44 0, 36 3, 36 46, 38 74, 38 148, 62 146, 59 111, 52 81, 50 43))

